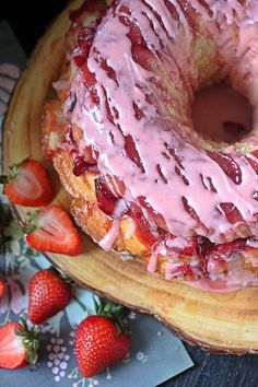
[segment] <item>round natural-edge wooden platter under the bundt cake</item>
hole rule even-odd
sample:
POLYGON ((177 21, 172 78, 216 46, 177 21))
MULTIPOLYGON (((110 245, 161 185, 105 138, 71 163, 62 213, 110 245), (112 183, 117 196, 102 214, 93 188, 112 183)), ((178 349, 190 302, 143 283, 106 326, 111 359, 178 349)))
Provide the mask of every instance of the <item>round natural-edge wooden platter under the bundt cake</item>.
MULTIPOLYGON (((39 40, 17 84, 4 124, 5 172, 25 157, 43 161, 40 112, 66 54, 69 12, 80 3, 73 0, 39 40)), ((58 192, 55 202, 69 209, 70 197, 51 165, 46 166, 58 192)), ((26 211, 15 208, 20 219, 26 211)), ((219 352, 258 352, 258 288, 224 294, 201 292, 148 273, 138 258, 125 261, 117 254, 105 253, 85 235, 83 241, 85 253, 79 257, 47 257, 81 285, 154 315, 190 343, 219 352)))

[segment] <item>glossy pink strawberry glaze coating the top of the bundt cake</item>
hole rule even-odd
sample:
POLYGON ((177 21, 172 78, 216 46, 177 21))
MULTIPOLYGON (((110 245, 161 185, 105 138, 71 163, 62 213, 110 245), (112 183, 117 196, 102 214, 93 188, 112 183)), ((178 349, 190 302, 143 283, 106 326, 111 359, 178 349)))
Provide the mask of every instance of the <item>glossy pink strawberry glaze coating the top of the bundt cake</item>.
MULTIPOLYGON (((101 174, 124 181, 127 202, 142 207, 139 198, 145 198, 175 236, 203 235, 223 243, 258 234, 258 204, 253 198, 257 174, 242 151, 257 149, 258 141, 248 136, 235 146, 221 144, 219 156, 207 152, 190 117, 194 93, 200 87, 192 42, 201 37, 214 46, 218 66, 212 75, 216 80, 227 75, 248 97, 256 127, 258 10, 236 0, 203 3, 115 2, 96 30, 86 72, 78 69, 72 79, 77 105, 71 121, 83 130, 84 145, 94 145, 99 153, 101 174), (140 48, 131 36, 143 42, 140 48), (136 48, 139 57, 133 55, 136 48), (140 64, 137 58, 143 55, 145 62, 140 64), (90 83, 85 73, 91 74, 90 83), (134 144, 133 156, 126 148, 128 138, 134 144), (230 221, 222 203, 237 209, 237 222, 230 221)), ((101 245, 110 248, 118 232, 114 225, 101 245)), ((155 257, 153 251, 151 271, 155 257)))

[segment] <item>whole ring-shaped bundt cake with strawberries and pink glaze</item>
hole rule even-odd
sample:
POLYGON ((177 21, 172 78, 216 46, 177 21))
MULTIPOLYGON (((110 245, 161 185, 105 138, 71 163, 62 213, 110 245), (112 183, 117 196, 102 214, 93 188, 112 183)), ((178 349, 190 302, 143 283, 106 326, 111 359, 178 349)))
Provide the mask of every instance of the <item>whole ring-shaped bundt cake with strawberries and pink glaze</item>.
POLYGON ((77 223, 167 280, 257 284, 257 3, 85 1, 66 40, 43 148, 77 223), (196 93, 221 81, 254 109, 253 130, 234 143, 192 124, 196 93))

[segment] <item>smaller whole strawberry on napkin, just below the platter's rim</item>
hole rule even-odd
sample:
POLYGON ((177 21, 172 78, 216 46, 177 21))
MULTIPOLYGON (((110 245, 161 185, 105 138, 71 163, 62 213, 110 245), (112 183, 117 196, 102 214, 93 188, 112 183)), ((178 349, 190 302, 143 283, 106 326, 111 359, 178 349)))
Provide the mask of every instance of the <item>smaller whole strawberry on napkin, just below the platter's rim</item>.
POLYGON ((28 284, 28 318, 42 324, 62 310, 72 297, 72 286, 55 269, 38 271, 28 284))

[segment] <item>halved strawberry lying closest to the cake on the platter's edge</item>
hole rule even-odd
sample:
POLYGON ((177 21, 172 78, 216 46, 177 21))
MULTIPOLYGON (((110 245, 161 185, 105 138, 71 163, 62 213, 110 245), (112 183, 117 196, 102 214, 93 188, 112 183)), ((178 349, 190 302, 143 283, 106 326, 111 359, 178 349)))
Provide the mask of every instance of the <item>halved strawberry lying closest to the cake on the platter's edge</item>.
POLYGON ((59 206, 49 206, 33 214, 25 226, 25 241, 40 251, 78 256, 83 251, 81 237, 68 213, 59 206))

